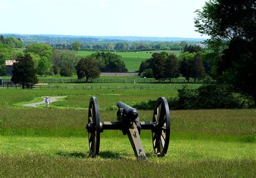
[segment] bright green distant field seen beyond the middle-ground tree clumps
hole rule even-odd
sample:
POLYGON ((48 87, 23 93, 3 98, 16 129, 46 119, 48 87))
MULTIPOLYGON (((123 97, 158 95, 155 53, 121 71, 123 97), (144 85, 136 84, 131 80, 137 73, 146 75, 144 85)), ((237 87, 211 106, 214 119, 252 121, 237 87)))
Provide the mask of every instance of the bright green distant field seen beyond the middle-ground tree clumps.
MULTIPOLYGON (((142 61, 151 58, 152 53, 161 51, 139 51, 139 52, 114 52, 120 56, 128 69, 128 72, 136 72, 139 70, 139 65, 142 61)), ((180 54, 180 51, 166 51, 169 53, 174 53, 176 55, 180 54)), ((78 51, 77 56, 88 56, 94 53, 93 51, 78 51)))

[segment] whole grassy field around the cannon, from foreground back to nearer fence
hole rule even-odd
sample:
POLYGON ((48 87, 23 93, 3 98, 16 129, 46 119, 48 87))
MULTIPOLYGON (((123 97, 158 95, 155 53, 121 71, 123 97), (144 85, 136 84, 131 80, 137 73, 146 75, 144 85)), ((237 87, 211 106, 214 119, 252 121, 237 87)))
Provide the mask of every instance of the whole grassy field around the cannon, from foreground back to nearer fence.
MULTIPOLYGON (((148 161, 136 161, 127 136, 100 135, 100 154, 87 157, 87 106, 97 96, 101 121, 133 102, 177 95, 177 91, 5 90, 0 93, 0 176, 242 176, 255 175, 255 109, 171 111, 171 139, 165 158, 153 153, 151 131, 141 138, 148 161), (45 95, 67 95, 50 108, 21 104, 45 95), (117 171, 118 170, 118 171, 117 171)), ((139 111, 151 121, 152 111, 139 111)))

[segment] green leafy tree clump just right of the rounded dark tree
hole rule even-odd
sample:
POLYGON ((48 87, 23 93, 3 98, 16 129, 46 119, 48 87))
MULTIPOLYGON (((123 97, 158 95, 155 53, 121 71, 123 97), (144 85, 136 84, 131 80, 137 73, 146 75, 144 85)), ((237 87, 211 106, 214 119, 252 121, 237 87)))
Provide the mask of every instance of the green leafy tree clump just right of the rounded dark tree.
POLYGON ((122 56, 111 52, 96 52, 91 55, 102 72, 127 72, 122 56))

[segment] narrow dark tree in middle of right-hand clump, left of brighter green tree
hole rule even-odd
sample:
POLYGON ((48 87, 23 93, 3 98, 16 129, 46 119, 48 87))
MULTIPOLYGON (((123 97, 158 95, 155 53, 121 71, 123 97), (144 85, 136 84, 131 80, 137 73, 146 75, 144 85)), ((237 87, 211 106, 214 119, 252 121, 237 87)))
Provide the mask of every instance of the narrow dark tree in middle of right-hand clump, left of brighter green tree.
POLYGON ((174 54, 169 54, 165 61, 165 78, 169 78, 170 83, 172 78, 179 77, 179 63, 174 54))

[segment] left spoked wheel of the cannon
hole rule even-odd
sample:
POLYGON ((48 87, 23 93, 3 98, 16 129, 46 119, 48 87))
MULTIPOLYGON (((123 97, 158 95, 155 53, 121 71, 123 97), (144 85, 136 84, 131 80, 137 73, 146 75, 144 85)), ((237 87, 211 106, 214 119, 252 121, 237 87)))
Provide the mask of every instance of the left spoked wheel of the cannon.
POLYGON ((96 97, 91 97, 89 102, 88 124, 86 129, 88 131, 90 156, 95 157, 99 154, 100 141, 99 107, 96 97))

